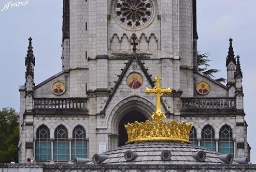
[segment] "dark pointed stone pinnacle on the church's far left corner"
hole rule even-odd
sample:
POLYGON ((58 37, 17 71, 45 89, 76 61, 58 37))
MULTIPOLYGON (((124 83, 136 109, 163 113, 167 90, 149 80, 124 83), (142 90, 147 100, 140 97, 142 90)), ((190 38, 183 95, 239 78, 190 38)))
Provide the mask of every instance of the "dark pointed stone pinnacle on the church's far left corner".
POLYGON ((33 47, 32 47, 32 38, 29 38, 29 46, 27 50, 27 55, 25 58, 25 66, 26 66, 26 87, 33 87, 35 85, 34 83, 34 67, 35 67, 35 57, 33 54, 33 47))

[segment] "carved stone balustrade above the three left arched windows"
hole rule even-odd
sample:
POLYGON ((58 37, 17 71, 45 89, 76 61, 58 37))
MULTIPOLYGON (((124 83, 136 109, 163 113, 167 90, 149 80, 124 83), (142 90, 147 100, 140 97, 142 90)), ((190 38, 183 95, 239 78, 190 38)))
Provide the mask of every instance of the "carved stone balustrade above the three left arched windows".
POLYGON ((34 98, 34 110, 87 109, 87 98, 34 98))

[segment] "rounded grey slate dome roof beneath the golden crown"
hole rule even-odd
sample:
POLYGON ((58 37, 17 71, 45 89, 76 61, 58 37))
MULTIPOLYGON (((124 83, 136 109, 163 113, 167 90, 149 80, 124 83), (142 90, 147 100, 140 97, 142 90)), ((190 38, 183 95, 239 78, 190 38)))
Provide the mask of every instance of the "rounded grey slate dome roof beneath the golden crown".
MULTIPOLYGON (((105 155, 104 161, 99 164, 104 165, 206 165, 206 164, 227 164, 226 162, 219 159, 219 155, 222 155, 216 151, 212 151, 203 147, 194 146, 191 144, 183 144, 177 142, 144 142, 144 143, 135 143, 128 144, 125 146, 118 147, 107 152, 102 153, 105 155), (132 151, 137 154, 137 157, 134 160, 126 161, 124 158, 124 153, 126 151, 132 151), (161 153, 164 150, 168 150, 171 154, 170 160, 162 160, 161 153), (206 154, 204 161, 195 159, 192 156, 192 153, 203 151, 206 154)), ((92 158, 93 159, 93 158, 92 158)), ((94 164, 92 159, 89 160, 86 164, 94 164)), ((232 164, 237 164, 233 162, 232 164)))

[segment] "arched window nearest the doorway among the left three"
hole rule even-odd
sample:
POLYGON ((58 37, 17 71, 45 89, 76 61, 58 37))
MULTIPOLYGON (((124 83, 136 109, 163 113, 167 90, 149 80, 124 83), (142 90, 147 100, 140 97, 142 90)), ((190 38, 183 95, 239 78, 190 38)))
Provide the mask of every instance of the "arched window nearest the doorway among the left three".
POLYGON ((72 160, 75 158, 87 158, 86 130, 80 125, 73 130, 72 160))

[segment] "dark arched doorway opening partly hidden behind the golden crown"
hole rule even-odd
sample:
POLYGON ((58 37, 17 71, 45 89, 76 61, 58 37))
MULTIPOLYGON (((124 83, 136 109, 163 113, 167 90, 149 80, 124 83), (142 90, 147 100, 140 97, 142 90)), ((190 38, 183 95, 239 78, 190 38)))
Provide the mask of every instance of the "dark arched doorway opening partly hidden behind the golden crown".
POLYGON ((125 130, 124 124, 127 124, 128 122, 134 123, 135 121, 144 122, 146 120, 147 118, 143 114, 136 111, 132 111, 124 115, 120 120, 119 128, 118 128, 118 131, 119 131, 118 146, 123 146, 125 145, 125 142, 128 141, 128 136, 127 136, 127 132, 125 130))

